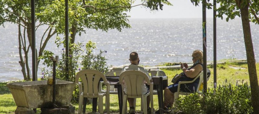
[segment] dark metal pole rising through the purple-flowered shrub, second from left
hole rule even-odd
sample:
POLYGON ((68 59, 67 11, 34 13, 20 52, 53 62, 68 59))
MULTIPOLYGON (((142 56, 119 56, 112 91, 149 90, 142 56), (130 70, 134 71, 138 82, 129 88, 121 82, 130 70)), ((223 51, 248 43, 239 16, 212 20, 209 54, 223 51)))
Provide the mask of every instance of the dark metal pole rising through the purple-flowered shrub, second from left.
POLYGON ((65 42, 66 42, 66 81, 68 81, 68 56, 69 56, 69 40, 68 40, 68 0, 65 0, 65 42))

